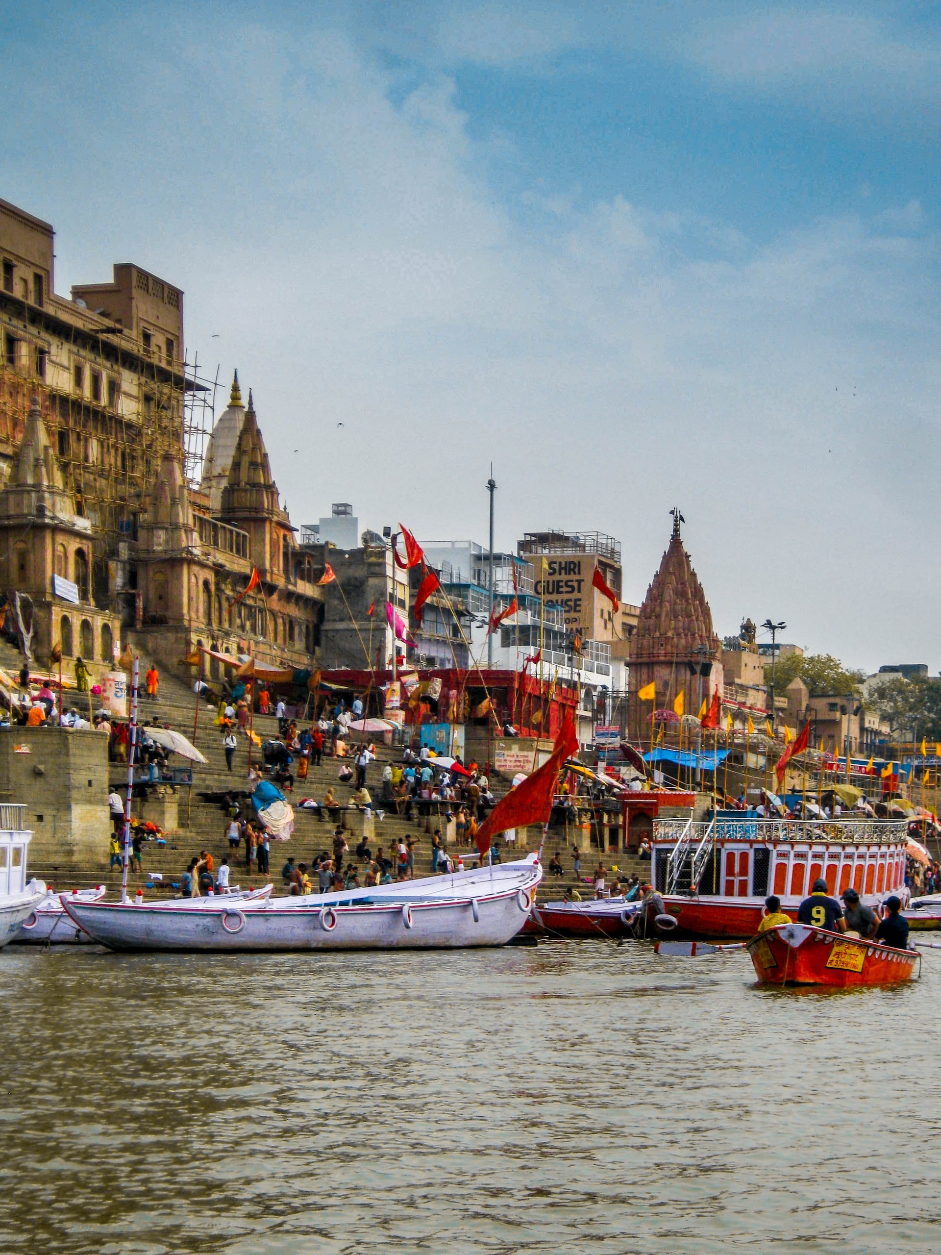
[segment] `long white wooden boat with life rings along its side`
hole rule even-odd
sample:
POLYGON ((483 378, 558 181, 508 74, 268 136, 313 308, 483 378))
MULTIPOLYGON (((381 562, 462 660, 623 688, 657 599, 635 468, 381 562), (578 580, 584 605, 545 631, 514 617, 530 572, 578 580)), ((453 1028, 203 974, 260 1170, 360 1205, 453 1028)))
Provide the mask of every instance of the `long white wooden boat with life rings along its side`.
POLYGON ((112 950, 381 950, 506 945, 542 880, 534 856, 349 892, 255 901, 64 902, 112 950), (171 907, 168 910, 168 907, 171 907))

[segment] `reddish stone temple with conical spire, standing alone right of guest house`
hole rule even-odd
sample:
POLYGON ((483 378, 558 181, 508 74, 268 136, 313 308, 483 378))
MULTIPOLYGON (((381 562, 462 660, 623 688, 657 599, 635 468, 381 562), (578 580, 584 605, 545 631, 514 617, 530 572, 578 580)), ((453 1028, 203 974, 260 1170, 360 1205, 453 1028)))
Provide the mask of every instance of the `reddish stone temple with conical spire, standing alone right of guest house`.
POLYGON ((629 737, 650 737, 654 710, 673 708, 680 693, 684 709, 696 714, 703 698, 723 690, 721 644, 713 631, 713 614, 680 538, 681 516, 674 511, 673 536, 637 616, 631 639, 629 737), (701 684, 700 684, 701 681, 701 684), (637 694, 654 684, 656 697, 637 694))

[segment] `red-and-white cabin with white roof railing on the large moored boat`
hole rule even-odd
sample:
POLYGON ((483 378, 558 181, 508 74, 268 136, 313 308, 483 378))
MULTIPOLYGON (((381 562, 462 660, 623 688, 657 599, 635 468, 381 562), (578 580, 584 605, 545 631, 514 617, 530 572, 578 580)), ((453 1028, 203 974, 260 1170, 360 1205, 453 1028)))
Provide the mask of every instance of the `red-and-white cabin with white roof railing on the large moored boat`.
POLYGON ((906 821, 657 820, 651 882, 662 894, 802 899, 818 878, 862 896, 905 885, 906 821))

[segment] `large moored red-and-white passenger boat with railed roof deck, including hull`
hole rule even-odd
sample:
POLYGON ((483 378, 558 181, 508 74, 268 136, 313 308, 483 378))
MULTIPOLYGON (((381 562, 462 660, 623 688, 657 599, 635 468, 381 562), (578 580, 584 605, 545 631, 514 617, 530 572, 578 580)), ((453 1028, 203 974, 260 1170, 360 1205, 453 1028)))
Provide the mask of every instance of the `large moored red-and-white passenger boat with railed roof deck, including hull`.
POLYGON ((763 820, 719 813, 703 822, 656 820, 651 882, 676 920, 673 936, 749 937, 769 895, 792 919, 816 880, 867 906, 907 901, 905 820, 763 820))

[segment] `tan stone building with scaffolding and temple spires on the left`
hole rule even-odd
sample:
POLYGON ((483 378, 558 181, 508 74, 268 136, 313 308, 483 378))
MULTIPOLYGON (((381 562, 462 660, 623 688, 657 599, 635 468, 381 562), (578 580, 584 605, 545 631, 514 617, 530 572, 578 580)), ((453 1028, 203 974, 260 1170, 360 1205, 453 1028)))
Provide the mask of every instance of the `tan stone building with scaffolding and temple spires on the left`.
POLYGON ((33 600, 33 651, 107 664, 134 634, 167 666, 196 644, 310 665, 322 590, 251 394, 236 375, 203 458, 182 291, 120 264, 66 300, 53 238, 0 201, 0 591, 33 600))

